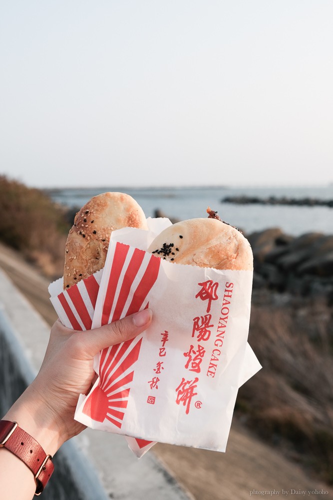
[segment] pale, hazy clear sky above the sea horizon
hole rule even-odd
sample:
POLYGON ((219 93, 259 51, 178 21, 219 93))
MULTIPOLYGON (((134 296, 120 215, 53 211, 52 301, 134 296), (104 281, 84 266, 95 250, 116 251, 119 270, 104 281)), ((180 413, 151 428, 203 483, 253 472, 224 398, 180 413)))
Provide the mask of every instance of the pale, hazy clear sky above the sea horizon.
POLYGON ((333 182, 332 25, 332 0, 1 2, 0 174, 333 182))

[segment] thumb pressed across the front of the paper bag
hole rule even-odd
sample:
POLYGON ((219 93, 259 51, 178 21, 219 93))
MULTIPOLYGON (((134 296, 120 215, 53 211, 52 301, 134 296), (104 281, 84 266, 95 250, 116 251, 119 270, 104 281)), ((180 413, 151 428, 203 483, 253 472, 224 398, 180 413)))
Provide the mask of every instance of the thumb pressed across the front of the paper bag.
POLYGON ((84 345, 87 353, 94 356, 105 347, 135 337, 150 325, 151 319, 152 310, 143 309, 113 323, 80 332, 81 345, 84 345))

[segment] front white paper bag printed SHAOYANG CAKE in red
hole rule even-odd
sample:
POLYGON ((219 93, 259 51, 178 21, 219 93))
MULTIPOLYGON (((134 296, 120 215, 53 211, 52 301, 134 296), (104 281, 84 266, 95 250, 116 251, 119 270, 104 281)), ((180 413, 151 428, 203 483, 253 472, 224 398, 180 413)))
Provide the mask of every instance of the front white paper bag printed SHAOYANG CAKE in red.
MULTIPOLYGON (((148 304, 153 323, 96 356, 98 378, 75 418, 139 440, 224 451, 244 381, 252 272, 160 260, 142 249, 150 242, 142 233, 112 233, 92 326, 148 304)), ((260 365, 252 362, 253 374, 260 365)))

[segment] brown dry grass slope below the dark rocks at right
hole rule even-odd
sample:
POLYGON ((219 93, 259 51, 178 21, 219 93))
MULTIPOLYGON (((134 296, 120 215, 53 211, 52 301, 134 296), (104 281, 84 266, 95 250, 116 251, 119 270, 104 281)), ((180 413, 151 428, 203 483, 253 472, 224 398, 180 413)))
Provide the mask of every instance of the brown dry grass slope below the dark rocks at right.
POLYGON ((252 307, 250 343, 263 370, 237 411, 266 440, 333 483, 333 316, 325 300, 252 307))

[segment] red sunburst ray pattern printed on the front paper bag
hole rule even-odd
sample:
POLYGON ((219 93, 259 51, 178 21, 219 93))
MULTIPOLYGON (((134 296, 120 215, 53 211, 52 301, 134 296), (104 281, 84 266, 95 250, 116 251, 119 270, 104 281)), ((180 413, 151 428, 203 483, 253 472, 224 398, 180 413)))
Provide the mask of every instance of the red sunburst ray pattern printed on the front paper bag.
MULTIPOLYGON (((160 266, 159 258, 150 255, 148 259, 144 259, 145 255, 146 252, 143 250, 133 249, 129 245, 122 243, 114 245, 106 297, 102 308, 102 324, 132 314, 143 307, 157 279, 160 266), (119 279, 125 265, 126 270, 119 286, 119 279), (135 290, 132 290, 138 274, 142 277, 135 290), (127 310, 124 310, 130 293, 132 299, 127 310)), ((148 302, 145 307, 148 307, 148 302)), ((100 352, 99 383, 86 399, 83 413, 93 420, 103 422, 107 419, 118 428, 121 427, 128 403, 129 385, 134 376, 133 365, 138 359, 141 343, 142 337, 136 337, 100 352)))

